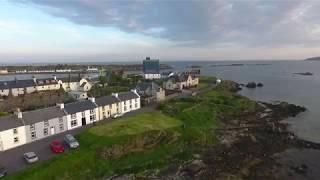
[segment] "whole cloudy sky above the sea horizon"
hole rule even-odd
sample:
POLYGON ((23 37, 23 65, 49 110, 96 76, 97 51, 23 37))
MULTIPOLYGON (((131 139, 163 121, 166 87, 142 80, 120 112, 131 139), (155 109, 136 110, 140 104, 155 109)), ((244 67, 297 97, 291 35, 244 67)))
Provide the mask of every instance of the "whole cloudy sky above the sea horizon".
POLYGON ((0 62, 320 56, 320 1, 0 0, 0 62))

